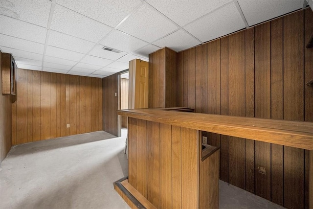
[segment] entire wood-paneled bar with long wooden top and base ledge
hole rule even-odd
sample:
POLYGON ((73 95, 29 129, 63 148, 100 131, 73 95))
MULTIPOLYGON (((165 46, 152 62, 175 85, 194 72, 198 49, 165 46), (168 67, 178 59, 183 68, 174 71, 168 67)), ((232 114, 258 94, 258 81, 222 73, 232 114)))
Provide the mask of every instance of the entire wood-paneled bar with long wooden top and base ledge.
MULTIPOLYGON (((114 183, 114 187, 132 208, 218 208, 219 148, 206 146, 202 150, 199 131, 313 150, 312 122, 189 113, 188 110, 117 111, 129 118, 129 176, 114 183)), ((310 172, 312 155, 313 151, 310 152, 310 172)), ((310 204, 312 189, 310 186, 310 204)))

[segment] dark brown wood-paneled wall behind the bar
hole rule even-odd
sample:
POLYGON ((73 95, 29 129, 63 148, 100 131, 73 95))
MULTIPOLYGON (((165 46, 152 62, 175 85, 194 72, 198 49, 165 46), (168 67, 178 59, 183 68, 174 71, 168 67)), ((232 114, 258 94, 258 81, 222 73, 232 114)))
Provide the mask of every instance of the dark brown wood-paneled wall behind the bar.
MULTIPOLYGON (((312 13, 307 8, 179 52, 177 76, 169 76, 177 89, 165 89, 177 95, 176 106, 198 113, 313 121, 313 89, 305 85, 313 78, 312 48, 305 48, 313 34, 312 13)), ((162 50, 149 56, 161 71, 162 50)), ((223 181, 286 208, 308 207, 307 150, 203 135, 221 147, 223 181)))

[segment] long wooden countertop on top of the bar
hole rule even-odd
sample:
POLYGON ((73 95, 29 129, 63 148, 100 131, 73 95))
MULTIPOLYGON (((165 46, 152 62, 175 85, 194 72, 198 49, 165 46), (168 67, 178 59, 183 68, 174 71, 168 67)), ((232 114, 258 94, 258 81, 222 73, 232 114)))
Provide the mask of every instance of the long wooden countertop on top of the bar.
POLYGON ((313 150, 313 122, 179 112, 187 108, 118 110, 118 115, 313 150))

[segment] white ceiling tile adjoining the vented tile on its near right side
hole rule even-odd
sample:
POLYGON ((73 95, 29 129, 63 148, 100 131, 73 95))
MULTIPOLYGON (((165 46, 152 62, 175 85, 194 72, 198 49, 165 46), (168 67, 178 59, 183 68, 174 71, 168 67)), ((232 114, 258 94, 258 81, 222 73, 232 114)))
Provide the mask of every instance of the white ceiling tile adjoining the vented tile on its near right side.
POLYGON ((100 44, 120 51, 132 52, 149 43, 123 33, 119 30, 113 30, 100 42, 100 44))

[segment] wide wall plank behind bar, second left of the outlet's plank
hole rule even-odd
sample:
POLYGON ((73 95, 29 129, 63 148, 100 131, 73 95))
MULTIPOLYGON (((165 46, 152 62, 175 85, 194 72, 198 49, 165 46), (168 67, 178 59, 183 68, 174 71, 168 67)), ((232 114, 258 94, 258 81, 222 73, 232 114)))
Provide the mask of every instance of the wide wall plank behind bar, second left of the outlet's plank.
MULTIPOLYGON (((228 37, 228 115, 245 116, 245 31, 228 37)), ((245 188, 245 139, 228 137, 228 181, 245 188)))

